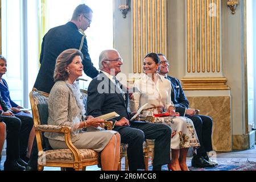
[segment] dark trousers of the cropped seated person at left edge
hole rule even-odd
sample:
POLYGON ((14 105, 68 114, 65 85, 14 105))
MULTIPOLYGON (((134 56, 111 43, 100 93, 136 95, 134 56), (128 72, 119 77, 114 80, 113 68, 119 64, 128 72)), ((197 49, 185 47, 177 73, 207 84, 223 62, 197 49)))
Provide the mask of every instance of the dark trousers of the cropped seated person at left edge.
POLYGON ((33 119, 26 115, 9 117, 2 115, 6 124, 6 161, 19 159, 27 155, 27 143, 33 127, 33 119))

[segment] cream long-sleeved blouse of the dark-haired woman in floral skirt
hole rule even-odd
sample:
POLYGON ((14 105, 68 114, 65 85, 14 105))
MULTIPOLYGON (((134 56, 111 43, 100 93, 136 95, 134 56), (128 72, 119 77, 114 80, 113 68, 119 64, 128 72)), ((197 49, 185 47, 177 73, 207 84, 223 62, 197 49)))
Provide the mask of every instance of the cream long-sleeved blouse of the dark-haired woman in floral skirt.
POLYGON ((155 81, 144 75, 139 80, 134 81, 134 87, 137 87, 141 93, 133 93, 134 100, 130 100, 130 110, 137 111, 139 107, 144 108, 161 107, 168 110, 168 107, 174 106, 171 101, 171 82, 159 74, 155 75, 155 81))

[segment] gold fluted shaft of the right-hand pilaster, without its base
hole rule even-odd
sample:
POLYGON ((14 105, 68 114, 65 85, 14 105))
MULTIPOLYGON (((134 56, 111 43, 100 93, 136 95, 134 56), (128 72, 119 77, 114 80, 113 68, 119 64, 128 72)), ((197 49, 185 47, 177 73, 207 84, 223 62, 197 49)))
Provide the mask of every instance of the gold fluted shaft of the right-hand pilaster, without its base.
POLYGON ((187 0, 188 73, 191 68, 192 73, 222 71, 220 3, 221 0, 187 0))

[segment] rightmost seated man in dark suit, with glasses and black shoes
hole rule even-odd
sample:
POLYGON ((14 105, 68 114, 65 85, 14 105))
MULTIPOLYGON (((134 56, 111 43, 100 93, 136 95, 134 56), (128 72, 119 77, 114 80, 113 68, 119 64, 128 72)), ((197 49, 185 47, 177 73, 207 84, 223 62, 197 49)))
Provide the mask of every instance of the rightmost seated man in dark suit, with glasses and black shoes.
POLYGON ((217 163, 209 159, 207 152, 212 151, 212 118, 207 115, 197 115, 195 109, 189 108, 189 102, 180 81, 177 78, 168 76, 169 63, 163 54, 158 54, 160 57, 160 75, 165 76, 171 81, 172 93, 171 100, 174 102, 176 111, 180 116, 188 117, 193 121, 196 129, 196 134, 200 142, 200 147, 196 150, 196 155, 193 156, 191 165, 193 167, 214 167, 217 163))

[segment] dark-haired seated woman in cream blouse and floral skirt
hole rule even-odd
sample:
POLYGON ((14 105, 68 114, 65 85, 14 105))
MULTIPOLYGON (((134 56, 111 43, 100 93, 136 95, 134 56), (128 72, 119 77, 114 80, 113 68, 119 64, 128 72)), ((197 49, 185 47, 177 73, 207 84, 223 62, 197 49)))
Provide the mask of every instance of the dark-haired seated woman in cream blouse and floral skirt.
POLYGON ((160 65, 159 56, 149 53, 144 57, 143 70, 146 75, 135 80, 134 87, 141 93, 130 96, 130 109, 137 111, 147 103, 142 111, 143 116, 170 113, 170 117, 155 118, 155 123, 166 123, 172 129, 171 137, 171 163, 168 169, 172 171, 188 171, 186 164, 189 147, 200 146, 195 127, 191 119, 185 117, 171 117, 175 115, 175 106, 171 101, 171 84, 158 74, 160 65))

